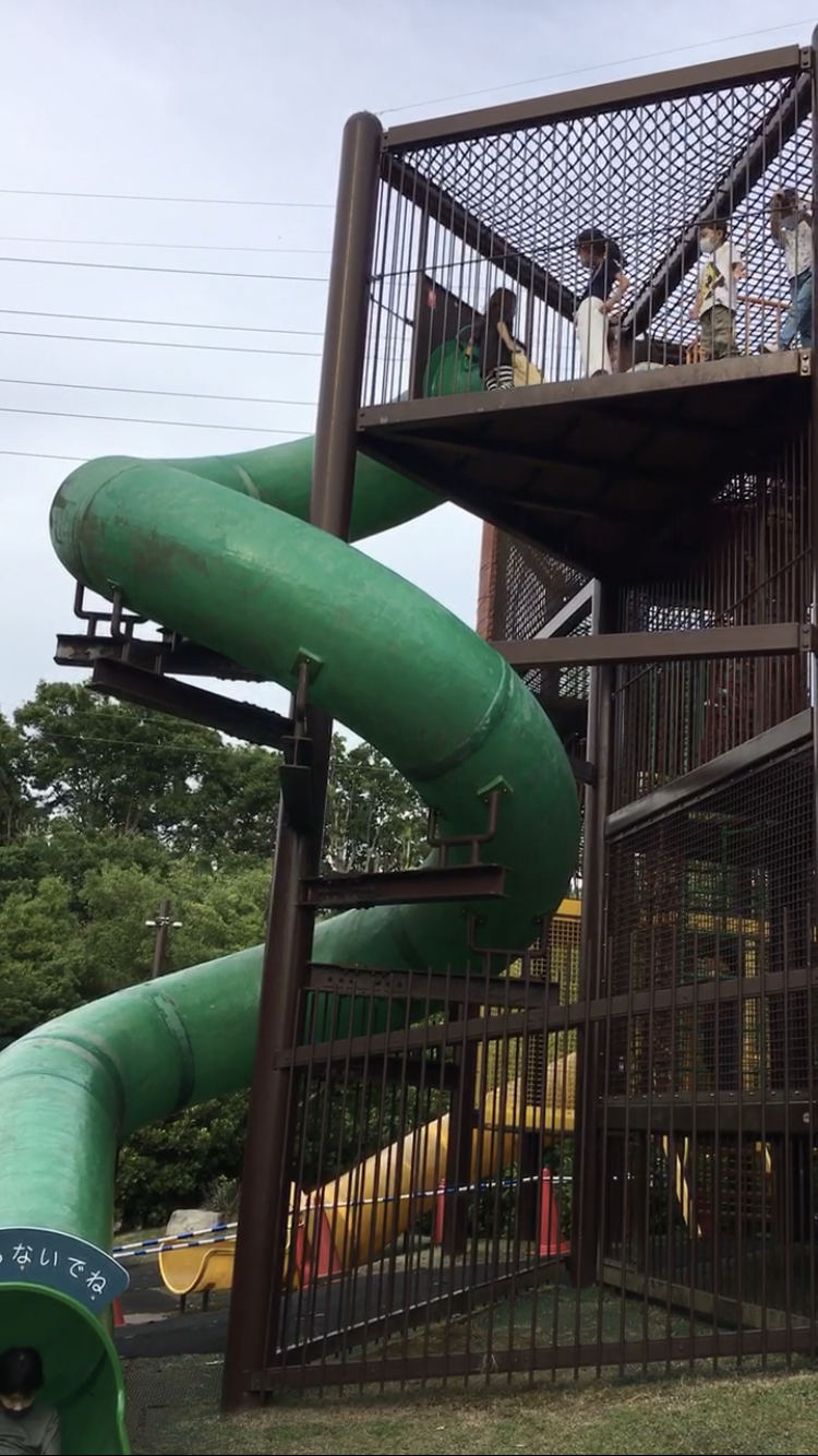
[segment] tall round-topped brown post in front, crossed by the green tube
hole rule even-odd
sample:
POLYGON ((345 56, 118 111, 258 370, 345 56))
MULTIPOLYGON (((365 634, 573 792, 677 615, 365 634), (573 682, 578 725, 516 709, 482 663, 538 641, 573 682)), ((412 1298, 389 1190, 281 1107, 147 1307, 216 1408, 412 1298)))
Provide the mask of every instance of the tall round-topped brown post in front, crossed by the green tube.
MULTIPOLYGON (((345 540, 352 511, 381 141, 377 116, 365 112, 351 116, 344 131, 338 182, 310 521, 345 540)), ((250 1379, 268 1366, 279 1337, 293 1160, 291 1079, 297 1073, 277 1061, 293 1045, 309 968, 314 911, 300 906, 300 882, 320 869, 332 718, 307 709, 306 727, 311 740, 314 818, 309 831, 298 833, 281 804, 224 1357, 224 1411, 261 1399, 250 1393, 250 1379)))

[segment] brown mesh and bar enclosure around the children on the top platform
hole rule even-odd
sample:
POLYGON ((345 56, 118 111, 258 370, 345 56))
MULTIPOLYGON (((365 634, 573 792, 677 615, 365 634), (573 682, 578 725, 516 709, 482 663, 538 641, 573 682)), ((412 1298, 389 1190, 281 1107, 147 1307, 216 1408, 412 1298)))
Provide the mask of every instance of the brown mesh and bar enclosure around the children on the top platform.
MULTIPOLYGON (((610 333, 614 368, 697 360, 699 230, 715 215, 744 264, 734 349, 774 341, 789 300, 767 201, 779 186, 811 194, 809 74, 777 71, 630 106, 589 98, 585 114, 387 151, 364 403, 409 389, 421 275, 477 312, 511 288, 514 332, 544 379, 589 371, 573 329, 587 227, 620 245, 629 280, 610 333)), ((458 313, 448 296, 447 306, 458 313)), ((453 316, 450 338, 461 323, 453 316)))

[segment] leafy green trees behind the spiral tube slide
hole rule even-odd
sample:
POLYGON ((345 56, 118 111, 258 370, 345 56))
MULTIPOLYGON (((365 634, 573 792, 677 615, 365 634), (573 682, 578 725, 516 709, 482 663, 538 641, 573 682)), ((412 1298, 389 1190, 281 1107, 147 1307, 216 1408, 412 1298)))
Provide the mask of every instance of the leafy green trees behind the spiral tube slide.
MULTIPOLYGON (((41 683, 0 718, 0 1047, 150 976, 160 900, 182 922, 167 971, 263 939, 278 764, 76 683, 41 683)), ((392 869, 425 852, 416 795, 374 750, 336 738, 327 860, 392 869)), ((116 1184, 125 1224, 162 1223, 215 1187, 227 1200, 245 1115, 246 1098, 229 1098, 132 1137, 116 1184)), ((335 1134, 344 1153, 358 1146, 358 1127, 335 1134)))

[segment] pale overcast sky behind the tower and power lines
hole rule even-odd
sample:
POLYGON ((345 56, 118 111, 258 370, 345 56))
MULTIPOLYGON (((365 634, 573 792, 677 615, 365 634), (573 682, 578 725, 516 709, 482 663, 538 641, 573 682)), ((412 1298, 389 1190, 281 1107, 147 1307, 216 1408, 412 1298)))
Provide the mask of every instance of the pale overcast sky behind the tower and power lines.
MULTIPOLYGON (((389 125, 806 44, 811 29, 798 0, 0 0, 0 709, 58 676, 54 638, 73 630, 73 584, 48 539, 51 498, 73 464, 36 456, 215 454, 258 447, 266 431, 269 443, 311 431, 351 112, 380 112, 389 125), (306 332, 230 332, 237 326, 306 332), (265 403, 151 393, 160 390, 265 403)), ((477 521, 444 507, 368 549, 473 623, 479 540, 477 521)), ((237 695, 282 702, 274 689, 237 695)))

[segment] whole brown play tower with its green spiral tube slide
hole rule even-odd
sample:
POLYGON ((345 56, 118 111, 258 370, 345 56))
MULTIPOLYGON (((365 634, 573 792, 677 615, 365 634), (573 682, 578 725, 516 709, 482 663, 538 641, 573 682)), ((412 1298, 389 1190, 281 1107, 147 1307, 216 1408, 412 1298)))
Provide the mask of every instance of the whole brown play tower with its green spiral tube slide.
MULTIPOLYGON (((226 1409, 815 1354, 815 371, 757 352, 786 307, 769 194, 818 195, 815 84, 786 48, 352 118, 314 443, 57 494, 58 662, 281 748, 282 798, 263 948, 0 1056, 0 1232, 108 1249, 118 1143, 250 1083, 226 1409), (703 363, 725 213, 736 355, 703 363), (603 379, 572 325, 589 223, 632 278, 603 379), (543 383, 489 395, 463 344, 498 282, 543 383), (441 499, 486 523, 477 635, 349 545, 441 499), (207 676, 282 683, 291 715, 207 676), (330 715, 428 804, 422 869, 322 874, 330 715)), ((67 1450, 127 1450, 105 1319, 6 1271, 67 1450)))

